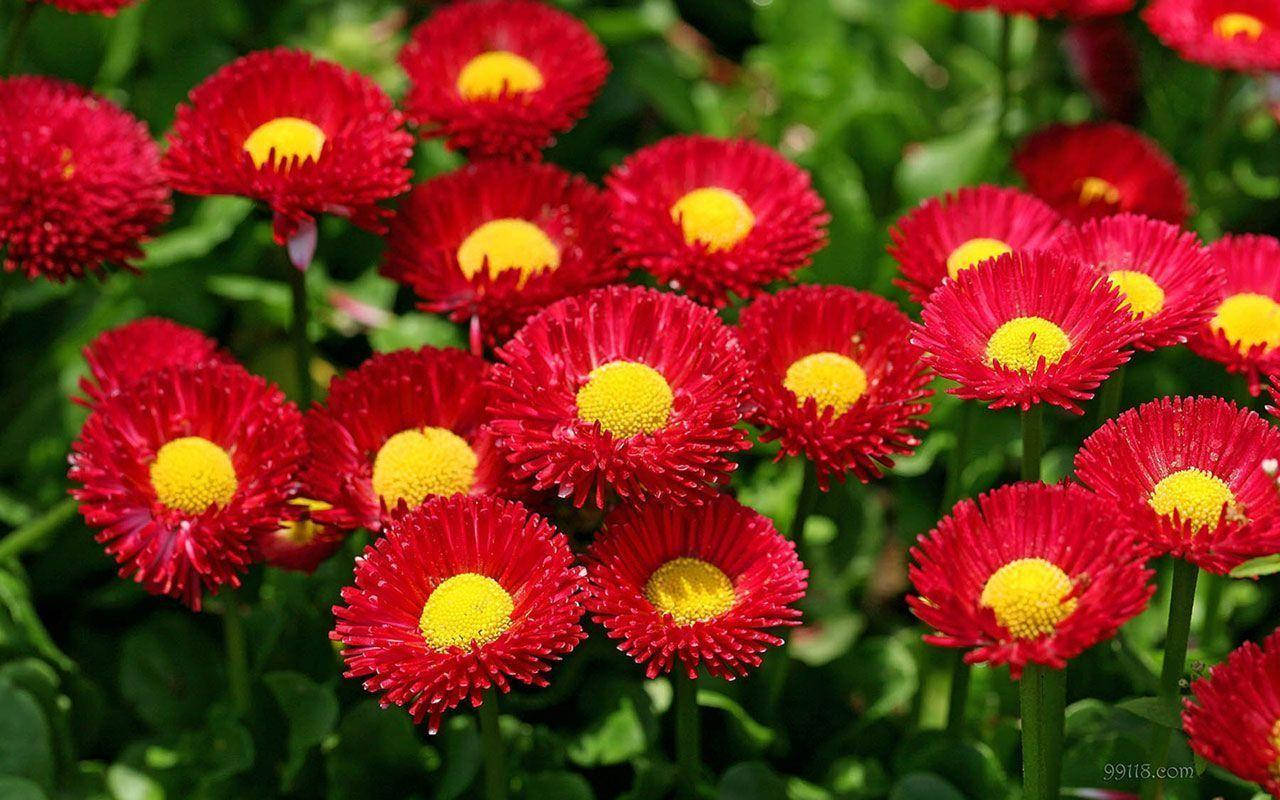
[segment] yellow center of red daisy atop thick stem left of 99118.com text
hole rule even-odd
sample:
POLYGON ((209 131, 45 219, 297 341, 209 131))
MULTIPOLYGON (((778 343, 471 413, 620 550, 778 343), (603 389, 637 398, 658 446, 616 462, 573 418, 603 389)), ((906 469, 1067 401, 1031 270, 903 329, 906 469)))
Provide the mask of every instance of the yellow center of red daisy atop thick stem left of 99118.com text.
POLYGON ((1057 630, 1075 611, 1071 579, 1043 558, 1011 561, 987 579, 978 603, 996 614, 996 622, 1014 639, 1036 639, 1057 630))

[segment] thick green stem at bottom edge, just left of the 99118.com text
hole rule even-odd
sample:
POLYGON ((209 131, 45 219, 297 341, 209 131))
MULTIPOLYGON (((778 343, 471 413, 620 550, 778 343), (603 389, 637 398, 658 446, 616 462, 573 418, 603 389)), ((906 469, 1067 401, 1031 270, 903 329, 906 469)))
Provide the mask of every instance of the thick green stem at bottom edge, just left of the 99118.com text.
POLYGON ((1023 707, 1023 797, 1059 800, 1066 671, 1028 664, 1019 690, 1023 707))

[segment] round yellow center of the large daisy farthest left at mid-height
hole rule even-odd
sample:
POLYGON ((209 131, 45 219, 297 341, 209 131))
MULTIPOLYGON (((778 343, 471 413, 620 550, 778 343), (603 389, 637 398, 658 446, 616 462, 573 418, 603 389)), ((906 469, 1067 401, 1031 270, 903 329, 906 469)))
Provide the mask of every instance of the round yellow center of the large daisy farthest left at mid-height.
POLYGON ((200 513, 236 497, 236 467, 227 451, 201 436, 166 442, 151 462, 151 488, 165 508, 200 513))

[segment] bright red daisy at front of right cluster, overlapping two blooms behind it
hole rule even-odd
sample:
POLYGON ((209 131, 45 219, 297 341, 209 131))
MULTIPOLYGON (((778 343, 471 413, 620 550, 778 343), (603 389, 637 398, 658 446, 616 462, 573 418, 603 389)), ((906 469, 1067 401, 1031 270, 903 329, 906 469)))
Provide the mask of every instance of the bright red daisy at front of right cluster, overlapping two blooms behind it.
POLYGON ((951 389, 957 397, 1080 413, 1076 403, 1133 355, 1139 328, 1121 302, 1082 261, 1012 253, 938 287, 913 342, 925 364, 960 384, 951 389))

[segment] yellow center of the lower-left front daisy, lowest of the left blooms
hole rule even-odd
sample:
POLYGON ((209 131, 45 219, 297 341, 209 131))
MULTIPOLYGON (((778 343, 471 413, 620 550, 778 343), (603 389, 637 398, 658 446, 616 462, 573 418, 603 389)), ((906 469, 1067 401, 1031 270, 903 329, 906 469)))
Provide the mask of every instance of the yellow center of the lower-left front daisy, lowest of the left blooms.
POLYGON ((502 584, 486 575, 462 572, 443 581, 426 598, 419 630, 436 650, 489 644, 511 627, 516 603, 502 584))

